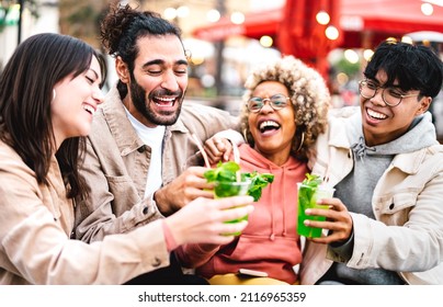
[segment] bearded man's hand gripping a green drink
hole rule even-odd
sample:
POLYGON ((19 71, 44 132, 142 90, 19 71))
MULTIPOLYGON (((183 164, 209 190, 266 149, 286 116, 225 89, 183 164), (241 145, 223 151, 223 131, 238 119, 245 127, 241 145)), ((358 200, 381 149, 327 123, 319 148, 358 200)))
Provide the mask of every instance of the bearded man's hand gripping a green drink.
POLYGON ((154 193, 159 211, 171 215, 197 197, 214 198, 214 183, 207 183, 203 167, 190 167, 169 184, 154 193))

